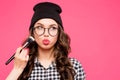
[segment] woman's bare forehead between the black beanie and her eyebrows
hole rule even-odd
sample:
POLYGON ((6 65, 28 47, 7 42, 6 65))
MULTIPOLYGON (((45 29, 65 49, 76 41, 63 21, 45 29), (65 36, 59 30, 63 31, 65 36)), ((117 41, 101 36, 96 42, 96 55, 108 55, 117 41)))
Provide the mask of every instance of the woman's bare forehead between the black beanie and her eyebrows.
POLYGON ((35 25, 37 24, 42 24, 42 25, 58 25, 57 22, 53 19, 50 19, 50 18, 43 18, 43 19, 40 19, 38 20, 35 25))

